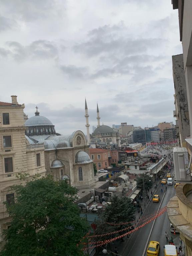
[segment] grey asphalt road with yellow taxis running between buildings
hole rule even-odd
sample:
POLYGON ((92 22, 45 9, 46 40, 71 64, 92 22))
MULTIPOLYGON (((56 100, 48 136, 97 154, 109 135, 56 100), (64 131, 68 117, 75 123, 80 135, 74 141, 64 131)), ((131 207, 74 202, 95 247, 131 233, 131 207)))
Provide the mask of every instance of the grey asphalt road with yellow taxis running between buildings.
MULTIPOLYGON (((173 173, 174 173, 174 169, 172 168, 171 174, 173 174, 173 173)), ((166 186, 167 186, 167 192, 165 193, 161 208, 164 207, 165 205, 167 205, 170 198, 175 195, 174 185, 166 185, 166 186)), ((156 194, 159 194, 161 197, 160 202, 161 202, 163 194, 164 194, 164 192, 161 193, 161 188, 163 188, 163 190, 165 190, 165 185, 163 185, 163 187, 160 185, 158 187, 158 190, 156 193, 156 194)), ((153 203, 151 201, 144 213, 144 216, 148 216, 150 214, 156 213, 160 202, 153 203)), ((147 238, 149 236, 152 224, 153 224, 153 221, 150 222, 149 224, 147 224, 146 226, 140 228, 138 231, 134 232, 134 234, 130 238, 130 240, 126 239, 127 244, 126 244, 126 247, 124 249, 122 256, 136 256, 136 255, 142 256, 143 255, 144 248, 147 243, 147 238)), ((151 233, 151 236, 149 239, 149 241, 153 240, 153 241, 160 242, 161 250, 160 250, 159 256, 164 255, 163 246, 165 244, 167 244, 166 238, 164 235, 165 231, 167 231, 169 237, 172 236, 174 238, 174 243, 176 245, 178 245, 179 234, 173 235, 173 233, 170 232, 170 222, 169 222, 166 212, 156 219, 155 225, 153 227, 153 230, 152 230, 152 233, 151 233)), ((145 255, 147 255, 147 254, 145 253, 145 255)))

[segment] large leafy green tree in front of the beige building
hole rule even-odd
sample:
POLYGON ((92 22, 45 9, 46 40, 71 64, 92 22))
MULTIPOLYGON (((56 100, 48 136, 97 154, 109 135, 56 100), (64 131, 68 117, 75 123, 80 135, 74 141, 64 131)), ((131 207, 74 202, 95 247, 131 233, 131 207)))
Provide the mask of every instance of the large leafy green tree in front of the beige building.
POLYGON ((16 202, 7 205, 11 225, 5 230, 7 243, 1 256, 83 255, 77 246, 87 222, 80 218, 77 189, 51 176, 12 187, 16 202))

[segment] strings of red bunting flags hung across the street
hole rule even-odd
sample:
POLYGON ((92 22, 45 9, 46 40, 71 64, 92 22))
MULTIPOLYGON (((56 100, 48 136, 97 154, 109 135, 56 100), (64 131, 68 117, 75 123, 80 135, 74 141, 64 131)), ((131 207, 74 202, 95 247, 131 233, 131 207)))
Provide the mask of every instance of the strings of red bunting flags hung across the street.
MULTIPOLYGON (((140 228, 144 227, 145 225, 147 225, 147 224, 150 223, 151 221, 153 221, 153 220, 155 220, 156 218, 158 218, 159 216, 161 216, 163 213, 166 212, 166 210, 167 210, 167 207, 166 207, 166 206, 163 207, 163 208, 161 208, 161 209, 159 210, 159 212, 158 212, 155 216, 153 216, 152 218, 150 218, 148 221, 144 222, 142 225, 139 225, 137 228, 135 228, 135 229, 133 229, 133 230, 131 230, 131 231, 129 231, 129 232, 123 234, 123 235, 120 235, 120 236, 117 236, 117 237, 114 237, 114 238, 110 238, 110 239, 107 239, 107 240, 104 240, 104 241, 89 242, 89 243, 81 243, 81 244, 83 244, 83 245, 87 245, 87 244, 91 244, 91 245, 92 245, 92 244, 95 244, 94 246, 91 246, 90 249, 95 248, 95 247, 99 247, 99 246, 101 246, 101 245, 108 244, 108 243, 110 243, 110 242, 113 242, 113 241, 115 241, 115 240, 117 240, 117 239, 119 239, 119 238, 122 238, 122 237, 124 237, 124 236, 127 236, 127 235, 129 235, 129 234, 131 234, 131 233, 133 233, 133 232, 139 230, 140 228)), ((126 222, 125 222, 125 223, 126 223, 126 222)), ((122 224, 123 224, 123 223, 122 223, 122 224)), ((124 231, 124 230, 126 230, 126 229, 128 229, 128 228, 122 229, 122 231, 124 231)), ((103 235, 110 235, 110 234, 115 234, 115 233, 118 233, 118 232, 120 232, 120 230, 114 231, 114 232, 111 232, 111 233, 107 233, 107 234, 103 234, 103 235)), ((99 236, 99 235, 90 236, 90 237, 97 237, 97 236, 99 236)), ((83 248, 82 250, 86 250, 86 248, 83 248)))

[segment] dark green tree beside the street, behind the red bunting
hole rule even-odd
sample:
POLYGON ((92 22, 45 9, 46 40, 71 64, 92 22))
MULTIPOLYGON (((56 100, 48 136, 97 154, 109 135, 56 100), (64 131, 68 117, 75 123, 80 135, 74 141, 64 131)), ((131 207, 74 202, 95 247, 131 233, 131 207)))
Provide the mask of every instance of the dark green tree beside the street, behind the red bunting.
MULTIPOLYGON (((112 200, 110 201, 111 204, 106 206, 106 209, 103 213, 100 214, 99 219, 96 221, 97 224, 97 234, 104 234, 110 233, 116 230, 123 229, 123 226, 130 226, 129 225, 117 225, 117 226, 110 226, 107 223, 123 223, 123 222, 130 222, 135 220, 135 208, 131 203, 130 198, 128 197, 118 197, 114 195, 112 200)), ((119 236, 120 233, 116 234, 119 236)), ((105 236, 105 239, 108 239, 113 236, 105 236)), ((100 240, 104 239, 103 237, 100 240)))

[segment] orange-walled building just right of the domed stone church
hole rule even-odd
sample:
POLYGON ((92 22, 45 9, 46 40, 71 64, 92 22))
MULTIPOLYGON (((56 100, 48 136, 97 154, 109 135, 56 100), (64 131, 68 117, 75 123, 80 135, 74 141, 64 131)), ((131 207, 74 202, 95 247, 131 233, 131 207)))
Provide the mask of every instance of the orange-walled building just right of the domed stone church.
POLYGON ((89 148, 89 156, 96 164, 97 170, 108 168, 111 163, 111 150, 102 148, 89 148))

